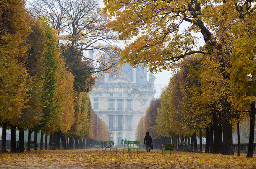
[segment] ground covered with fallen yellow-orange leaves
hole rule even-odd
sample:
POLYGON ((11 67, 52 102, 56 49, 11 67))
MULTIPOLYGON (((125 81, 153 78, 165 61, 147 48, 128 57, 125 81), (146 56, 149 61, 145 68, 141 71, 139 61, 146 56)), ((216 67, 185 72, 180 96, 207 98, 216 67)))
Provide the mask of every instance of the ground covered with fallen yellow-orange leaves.
POLYGON ((223 156, 221 154, 187 153, 175 151, 162 156, 160 150, 128 155, 127 149, 110 154, 97 149, 85 150, 39 150, 25 153, 0 154, 0 168, 189 168, 189 169, 256 169, 256 157, 223 156))

